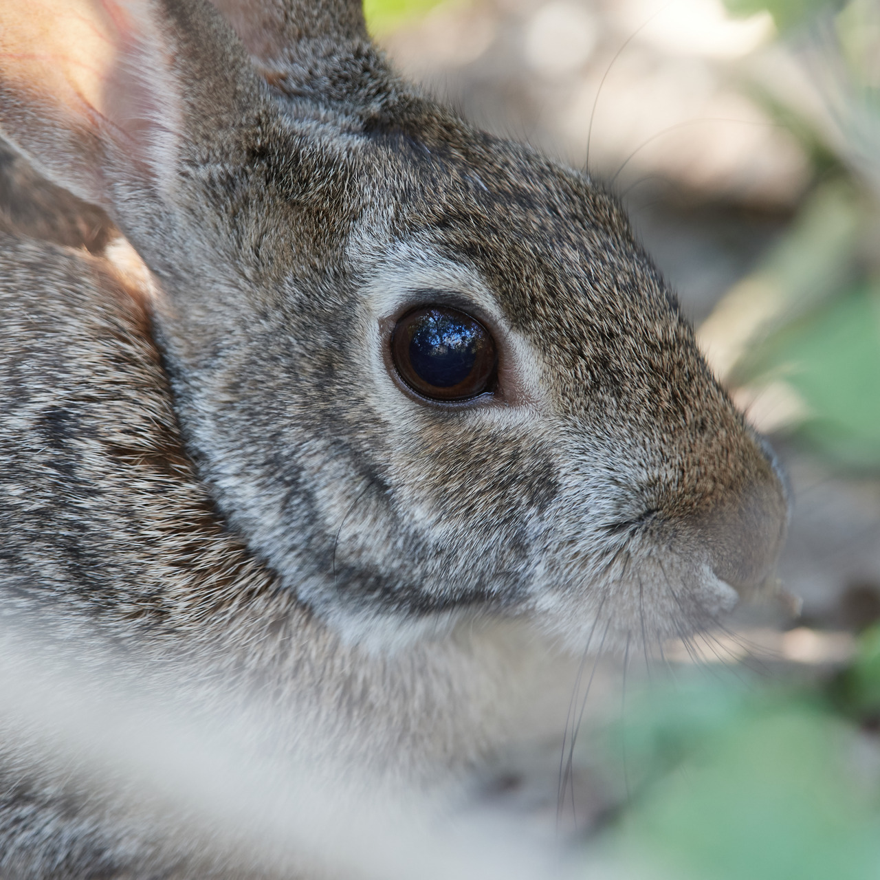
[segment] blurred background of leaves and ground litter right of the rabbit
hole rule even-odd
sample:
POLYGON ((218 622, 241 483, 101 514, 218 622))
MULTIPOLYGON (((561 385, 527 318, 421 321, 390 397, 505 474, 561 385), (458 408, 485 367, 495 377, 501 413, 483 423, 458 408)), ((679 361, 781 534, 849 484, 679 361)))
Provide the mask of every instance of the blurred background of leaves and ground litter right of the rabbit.
POLYGON ((795 499, 798 599, 650 686, 654 657, 590 666, 558 788, 548 737, 484 795, 592 840, 589 876, 880 876, 880 2, 366 9, 430 92, 620 196, 795 499))

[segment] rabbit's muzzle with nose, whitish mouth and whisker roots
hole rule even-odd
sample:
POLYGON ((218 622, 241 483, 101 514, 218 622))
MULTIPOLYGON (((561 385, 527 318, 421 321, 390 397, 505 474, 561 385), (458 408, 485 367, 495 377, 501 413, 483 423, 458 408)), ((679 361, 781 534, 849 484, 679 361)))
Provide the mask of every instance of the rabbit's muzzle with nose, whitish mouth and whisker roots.
POLYGON ((714 429, 670 431, 653 447, 570 437, 535 601, 573 649, 597 630, 609 648, 715 627, 773 580, 788 488, 732 408, 719 407, 714 429))

